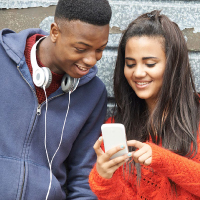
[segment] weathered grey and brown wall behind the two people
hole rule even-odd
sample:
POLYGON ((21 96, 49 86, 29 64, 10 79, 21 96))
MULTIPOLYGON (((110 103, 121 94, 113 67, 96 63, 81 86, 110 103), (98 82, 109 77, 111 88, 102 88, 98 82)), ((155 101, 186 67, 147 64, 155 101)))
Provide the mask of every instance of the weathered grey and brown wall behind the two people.
MULTIPOLYGON (((40 27, 48 32, 57 2, 58 0, 0 0, 0 29, 10 28, 19 32, 25 28, 40 27)), ((108 90, 108 107, 113 105, 112 76, 121 33, 137 16, 155 9, 162 10, 162 13, 175 21, 183 31, 190 51, 195 85, 200 92, 200 0, 109 0, 109 2, 113 11, 109 43, 102 59, 97 63, 98 76, 108 90)))

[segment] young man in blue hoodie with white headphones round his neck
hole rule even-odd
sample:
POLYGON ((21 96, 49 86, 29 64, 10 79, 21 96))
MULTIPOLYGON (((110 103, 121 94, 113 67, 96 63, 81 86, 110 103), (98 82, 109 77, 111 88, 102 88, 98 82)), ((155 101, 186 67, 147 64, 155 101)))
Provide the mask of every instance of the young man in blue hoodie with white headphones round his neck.
POLYGON ((110 18, 107 0, 59 0, 49 36, 0 32, 1 199, 96 199, 88 174, 106 89, 95 64, 110 18))

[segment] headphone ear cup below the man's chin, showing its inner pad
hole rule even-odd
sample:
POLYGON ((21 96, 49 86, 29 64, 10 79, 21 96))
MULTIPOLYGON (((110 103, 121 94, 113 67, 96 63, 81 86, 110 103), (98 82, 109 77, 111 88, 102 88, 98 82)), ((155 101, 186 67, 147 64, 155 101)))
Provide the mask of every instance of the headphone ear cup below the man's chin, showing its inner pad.
POLYGON ((69 91, 73 92, 78 86, 79 78, 72 78, 68 74, 65 74, 61 81, 61 87, 63 92, 68 93, 69 91))

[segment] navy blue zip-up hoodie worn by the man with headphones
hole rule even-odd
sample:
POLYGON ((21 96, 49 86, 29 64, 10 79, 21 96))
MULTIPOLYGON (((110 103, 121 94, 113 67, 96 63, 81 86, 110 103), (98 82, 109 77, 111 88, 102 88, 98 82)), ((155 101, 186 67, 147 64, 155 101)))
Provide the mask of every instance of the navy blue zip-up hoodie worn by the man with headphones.
MULTIPOLYGON (((0 31, 0 199, 45 200, 50 170, 45 154, 45 102, 38 104, 25 61, 26 39, 40 29, 0 31), (40 114, 38 114, 38 111, 40 114)), ((93 145, 106 114, 106 89, 94 66, 80 79, 71 103, 61 147, 53 164, 48 200, 96 199, 88 174, 96 161, 93 145), (65 165, 64 165, 65 162, 65 165), (66 167, 67 166, 67 173, 66 167), (67 180, 66 197, 63 185, 67 180)), ((48 97, 47 149, 55 153, 68 106, 61 88, 48 97)))

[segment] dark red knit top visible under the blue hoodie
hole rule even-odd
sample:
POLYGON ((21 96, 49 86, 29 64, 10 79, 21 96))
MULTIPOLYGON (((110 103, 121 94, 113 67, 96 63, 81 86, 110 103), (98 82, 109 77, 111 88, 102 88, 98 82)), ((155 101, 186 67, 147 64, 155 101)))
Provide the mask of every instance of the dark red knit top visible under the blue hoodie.
MULTIPOLYGON (((29 37, 26 41, 26 48, 25 48, 25 51, 24 51, 24 55, 25 55, 26 63, 28 65, 31 76, 33 74, 33 69, 32 69, 31 60, 30 60, 31 48, 35 44, 35 42, 37 40, 39 40, 41 37, 43 37, 43 35, 35 34, 35 35, 29 37)), ((39 60, 38 57, 37 57, 37 63, 38 63, 39 67, 44 67, 44 65, 42 64, 42 62, 39 60)), ((49 97, 50 94, 55 92, 60 87, 61 80, 62 80, 62 77, 63 77, 63 74, 56 74, 54 72, 51 72, 51 73, 52 73, 52 83, 46 89, 47 97, 49 97)), ((35 86, 35 89, 36 89, 36 95, 37 95, 37 98, 38 98, 38 103, 41 104, 42 102, 44 102, 46 100, 44 91, 43 91, 42 88, 37 87, 37 86, 35 86)))

